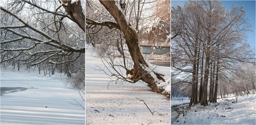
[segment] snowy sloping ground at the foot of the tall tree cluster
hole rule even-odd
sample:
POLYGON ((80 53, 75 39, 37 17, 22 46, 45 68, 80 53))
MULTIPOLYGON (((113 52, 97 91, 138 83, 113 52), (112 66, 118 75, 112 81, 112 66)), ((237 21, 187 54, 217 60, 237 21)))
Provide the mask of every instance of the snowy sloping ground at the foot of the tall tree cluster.
POLYGON ((216 103, 209 103, 208 106, 200 104, 189 106, 180 106, 177 112, 180 116, 173 124, 224 124, 224 125, 255 125, 256 124, 256 103, 255 94, 249 96, 218 99, 216 103), (183 116, 184 113, 184 116, 183 116))

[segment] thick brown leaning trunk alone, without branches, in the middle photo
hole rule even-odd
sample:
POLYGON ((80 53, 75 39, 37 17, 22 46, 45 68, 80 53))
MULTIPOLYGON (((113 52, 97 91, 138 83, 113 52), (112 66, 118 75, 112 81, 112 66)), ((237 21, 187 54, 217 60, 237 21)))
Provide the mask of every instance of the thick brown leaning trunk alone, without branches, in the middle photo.
MULTIPOLYGON (((99 1, 107 10, 110 12, 110 14, 115 18, 117 26, 119 26, 119 30, 123 33, 128 51, 131 55, 131 58, 134 62, 134 68, 132 69, 133 75, 131 80, 133 81, 139 81, 142 80, 145 83, 148 84, 149 87, 151 87, 154 92, 157 92, 157 85, 156 82, 157 79, 154 79, 146 69, 148 68, 148 64, 145 62, 143 55, 140 52, 140 47, 138 43, 138 34, 129 25, 129 22, 125 19, 125 15, 115 6, 115 1, 108 1, 108 0, 100 0, 99 1)), ((153 73, 157 76, 159 80, 165 81, 162 77, 162 74, 153 73)))

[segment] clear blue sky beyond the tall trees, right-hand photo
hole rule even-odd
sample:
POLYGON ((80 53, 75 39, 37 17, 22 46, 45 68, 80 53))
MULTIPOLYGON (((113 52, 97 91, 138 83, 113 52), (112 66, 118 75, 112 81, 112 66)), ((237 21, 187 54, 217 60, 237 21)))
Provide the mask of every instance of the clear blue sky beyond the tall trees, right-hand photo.
MULTIPOLYGON (((171 6, 183 6, 184 5, 184 0, 171 0, 171 6)), ((229 10, 232 6, 242 6, 244 5, 244 11, 246 13, 246 17, 250 18, 250 24, 251 24, 251 28, 253 30, 253 32, 247 32, 248 38, 247 38, 247 43, 250 44, 251 48, 255 48, 255 43, 256 43, 256 27, 255 27, 255 20, 256 20, 256 16, 255 16, 255 0, 221 0, 221 4, 223 4, 226 7, 226 10, 229 10)))

